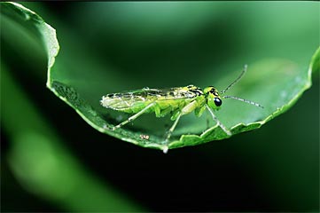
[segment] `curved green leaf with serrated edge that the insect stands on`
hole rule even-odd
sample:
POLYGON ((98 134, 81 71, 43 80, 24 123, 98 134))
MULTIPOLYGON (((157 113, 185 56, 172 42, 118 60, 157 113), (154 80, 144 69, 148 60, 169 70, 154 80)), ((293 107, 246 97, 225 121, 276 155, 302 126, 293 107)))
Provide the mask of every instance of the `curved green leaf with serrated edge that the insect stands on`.
MULTIPOLYGON (((99 100, 103 95, 121 92, 121 86, 116 83, 119 81, 115 81, 116 70, 112 67, 105 67, 104 70, 92 70, 90 67, 80 67, 81 63, 77 64, 79 67, 71 68, 66 67, 66 63, 59 63, 59 60, 58 64, 54 64, 59 45, 55 39, 51 40, 50 35, 48 33, 48 36, 44 36, 47 38, 45 43, 47 43, 48 50, 52 50, 49 51, 50 66, 48 67, 47 86, 60 99, 72 106, 96 130, 138 146, 162 150, 229 138, 206 114, 200 118, 195 117, 194 114, 183 116, 169 144, 164 143, 165 133, 172 125, 168 117, 156 118, 154 114, 144 114, 120 130, 110 130, 110 127, 129 116, 99 105, 99 100)), ((316 51, 309 69, 299 67, 287 59, 263 59, 249 64, 246 75, 227 94, 253 100, 264 108, 247 105, 237 100, 225 99, 222 110, 215 112, 216 116, 231 130, 232 135, 260 128, 261 125, 293 106, 303 91, 310 87, 311 71, 318 69, 316 68, 318 55, 319 51, 316 51)), ((218 89, 222 90, 239 75, 240 68, 234 72, 225 70, 215 78, 208 76, 207 83, 219 85, 218 89)), ((215 67, 212 67, 212 70, 215 70, 215 67)), ((199 82, 199 79, 193 80, 199 82)), ((203 80, 203 84, 197 86, 203 88, 208 85, 207 83, 203 80)), ((147 82, 142 87, 145 86, 150 87, 147 82)))

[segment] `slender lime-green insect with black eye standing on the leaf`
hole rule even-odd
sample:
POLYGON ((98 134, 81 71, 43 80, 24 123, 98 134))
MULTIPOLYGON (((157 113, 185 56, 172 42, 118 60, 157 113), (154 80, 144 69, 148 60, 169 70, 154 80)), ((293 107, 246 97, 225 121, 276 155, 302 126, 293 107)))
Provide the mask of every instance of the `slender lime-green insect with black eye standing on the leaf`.
POLYGON ((227 134, 231 135, 222 122, 215 116, 214 111, 219 110, 222 106, 222 99, 236 99, 254 106, 260 106, 250 100, 240 99, 234 96, 222 96, 222 94, 230 89, 235 83, 238 83, 240 78, 246 73, 247 66, 230 85, 221 91, 209 86, 204 90, 194 85, 184 87, 174 87, 169 89, 149 89, 144 88, 137 91, 127 91, 123 93, 111 93, 102 97, 100 103, 106 108, 121 111, 128 114, 133 114, 128 120, 119 123, 113 127, 113 130, 121 128, 121 126, 132 122, 141 114, 154 112, 156 117, 163 117, 171 114, 171 120, 175 121, 167 132, 165 142, 168 143, 169 138, 176 129, 181 116, 184 114, 194 113, 199 117, 207 109, 214 121, 227 134))

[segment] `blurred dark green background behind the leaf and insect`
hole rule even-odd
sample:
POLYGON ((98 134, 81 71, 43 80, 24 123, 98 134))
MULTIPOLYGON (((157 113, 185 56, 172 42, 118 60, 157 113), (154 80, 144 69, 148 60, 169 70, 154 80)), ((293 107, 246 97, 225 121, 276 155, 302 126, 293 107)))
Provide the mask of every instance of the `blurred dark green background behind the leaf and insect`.
MULTIPOLYGON (((58 68, 113 70, 114 91, 206 86, 260 59, 307 69, 320 43, 316 2, 23 5, 56 28, 58 68)), ((319 210, 318 74, 261 130, 162 154, 91 128, 45 88, 42 44, 1 21, 2 211, 319 210)))

